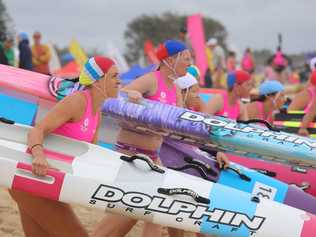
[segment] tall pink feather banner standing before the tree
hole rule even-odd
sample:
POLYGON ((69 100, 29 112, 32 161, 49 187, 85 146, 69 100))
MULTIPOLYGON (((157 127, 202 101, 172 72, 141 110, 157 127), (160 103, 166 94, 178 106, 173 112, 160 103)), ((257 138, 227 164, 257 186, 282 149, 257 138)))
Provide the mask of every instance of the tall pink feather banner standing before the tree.
POLYGON ((207 57, 205 52, 203 19, 200 14, 192 15, 187 18, 187 30, 195 54, 195 64, 201 71, 200 84, 204 85, 207 57))

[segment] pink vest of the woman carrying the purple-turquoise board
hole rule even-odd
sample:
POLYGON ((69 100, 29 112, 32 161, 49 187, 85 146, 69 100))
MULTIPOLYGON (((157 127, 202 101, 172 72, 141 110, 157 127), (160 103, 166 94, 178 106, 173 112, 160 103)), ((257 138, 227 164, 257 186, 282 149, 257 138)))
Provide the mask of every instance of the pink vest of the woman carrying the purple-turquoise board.
POLYGON ((173 85, 172 88, 168 88, 165 84, 164 78, 160 71, 155 72, 155 78, 157 80, 157 90, 154 95, 146 97, 149 100, 159 101, 163 104, 177 105, 177 89, 173 85))

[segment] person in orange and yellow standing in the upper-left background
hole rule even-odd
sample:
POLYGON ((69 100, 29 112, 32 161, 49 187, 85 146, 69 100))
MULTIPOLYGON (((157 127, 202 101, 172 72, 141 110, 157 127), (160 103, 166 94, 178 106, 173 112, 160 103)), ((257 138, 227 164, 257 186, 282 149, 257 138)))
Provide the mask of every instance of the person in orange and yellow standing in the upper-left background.
POLYGON ((50 74, 49 60, 50 50, 47 45, 41 44, 42 35, 36 31, 33 35, 34 45, 32 46, 32 62, 35 72, 50 74))

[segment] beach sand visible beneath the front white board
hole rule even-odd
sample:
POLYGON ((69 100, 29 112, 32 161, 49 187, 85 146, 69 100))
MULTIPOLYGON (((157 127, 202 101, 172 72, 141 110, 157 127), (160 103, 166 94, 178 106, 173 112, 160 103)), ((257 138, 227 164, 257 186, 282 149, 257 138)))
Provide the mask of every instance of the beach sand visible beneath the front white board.
MULTIPOLYGON (((98 223, 105 215, 103 211, 78 205, 75 205, 74 209, 89 233, 91 233, 96 223, 98 223)), ((142 227, 143 222, 139 221, 137 225, 130 231, 127 237, 141 236, 142 227)), ((10 198, 8 192, 4 188, 0 188, 0 236, 24 236, 16 203, 10 198)), ((185 237, 193 236, 195 235, 190 233, 185 235, 185 237)), ((168 237, 166 229, 164 229, 163 237, 168 237)))

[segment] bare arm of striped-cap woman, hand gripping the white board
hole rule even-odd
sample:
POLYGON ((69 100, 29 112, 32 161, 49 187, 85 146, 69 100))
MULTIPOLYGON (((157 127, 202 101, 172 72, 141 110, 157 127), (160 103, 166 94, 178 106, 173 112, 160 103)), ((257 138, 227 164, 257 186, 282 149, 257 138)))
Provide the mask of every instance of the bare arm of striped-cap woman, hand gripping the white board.
POLYGON ((36 124, 28 133, 28 147, 33 147, 31 150, 34 158, 32 171, 36 175, 46 175, 47 173, 48 163, 42 146, 44 137, 65 122, 79 119, 82 115, 81 111, 84 111, 84 109, 81 108, 85 104, 84 97, 80 94, 74 94, 73 97, 76 97, 76 99, 71 100, 69 99, 70 97, 66 97, 59 102, 45 118, 36 124))

